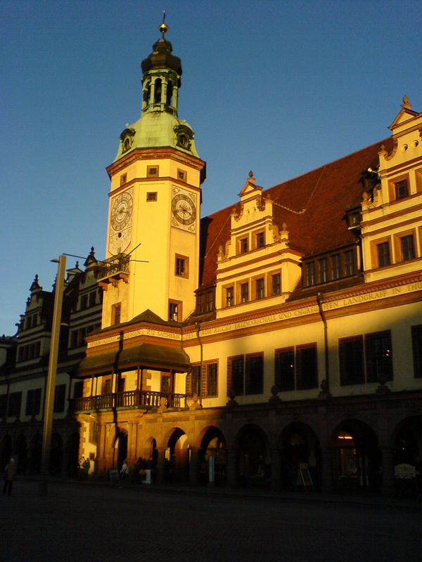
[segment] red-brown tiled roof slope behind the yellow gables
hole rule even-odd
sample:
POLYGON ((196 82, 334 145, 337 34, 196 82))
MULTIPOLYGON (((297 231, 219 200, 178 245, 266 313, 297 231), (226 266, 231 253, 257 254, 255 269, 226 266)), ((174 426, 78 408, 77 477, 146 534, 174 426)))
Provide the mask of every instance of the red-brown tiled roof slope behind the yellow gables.
MULTIPOLYGON (((345 213, 362 201, 362 174, 370 167, 377 169, 382 144, 391 150, 392 138, 262 192, 263 197, 274 201, 274 222, 279 230, 286 223, 290 247, 307 256, 354 242, 345 213)), ((201 287, 215 284, 217 254, 219 246, 224 248, 229 240, 233 209, 226 207, 201 220, 201 287)))

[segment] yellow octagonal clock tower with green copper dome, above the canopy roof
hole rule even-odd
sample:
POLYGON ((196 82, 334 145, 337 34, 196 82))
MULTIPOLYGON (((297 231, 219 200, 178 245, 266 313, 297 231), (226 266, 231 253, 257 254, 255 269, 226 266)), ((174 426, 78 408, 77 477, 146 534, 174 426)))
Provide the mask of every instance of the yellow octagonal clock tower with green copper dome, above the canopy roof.
POLYGON ((103 327, 147 309, 183 321, 198 287, 200 185, 205 162, 177 112, 181 62, 165 39, 142 61, 141 119, 127 124, 110 176, 103 327))

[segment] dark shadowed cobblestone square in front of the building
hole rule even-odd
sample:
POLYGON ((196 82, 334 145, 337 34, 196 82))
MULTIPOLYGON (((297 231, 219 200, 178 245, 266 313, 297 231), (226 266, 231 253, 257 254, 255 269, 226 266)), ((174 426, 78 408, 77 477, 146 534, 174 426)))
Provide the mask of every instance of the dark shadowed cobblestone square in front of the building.
POLYGON ((16 481, 1 495, 2 562, 420 562, 419 504, 16 481))

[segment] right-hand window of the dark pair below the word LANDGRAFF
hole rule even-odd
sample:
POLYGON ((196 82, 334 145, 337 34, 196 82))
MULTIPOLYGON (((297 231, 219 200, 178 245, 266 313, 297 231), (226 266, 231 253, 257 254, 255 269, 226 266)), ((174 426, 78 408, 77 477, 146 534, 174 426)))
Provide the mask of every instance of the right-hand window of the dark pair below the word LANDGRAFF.
POLYGON ((366 381, 390 381, 392 379, 390 330, 366 334, 366 381))

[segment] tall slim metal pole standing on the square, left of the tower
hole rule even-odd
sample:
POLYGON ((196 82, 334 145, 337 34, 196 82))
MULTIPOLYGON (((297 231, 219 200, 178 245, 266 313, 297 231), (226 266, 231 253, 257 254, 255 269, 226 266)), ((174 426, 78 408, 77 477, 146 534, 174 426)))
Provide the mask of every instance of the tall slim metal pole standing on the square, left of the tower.
POLYGON ((59 256, 51 261, 58 263, 56 289, 54 293, 53 324, 51 326, 51 344, 49 373, 47 374, 46 396, 44 401, 44 429, 42 433, 41 478, 39 494, 47 495, 49 488, 49 464, 51 449, 51 427, 53 426, 54 391, 56 389, 58 341, 60 339, 60 321, 63 304, 63 286, 65 282, 66 256, 59 256))

